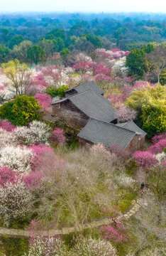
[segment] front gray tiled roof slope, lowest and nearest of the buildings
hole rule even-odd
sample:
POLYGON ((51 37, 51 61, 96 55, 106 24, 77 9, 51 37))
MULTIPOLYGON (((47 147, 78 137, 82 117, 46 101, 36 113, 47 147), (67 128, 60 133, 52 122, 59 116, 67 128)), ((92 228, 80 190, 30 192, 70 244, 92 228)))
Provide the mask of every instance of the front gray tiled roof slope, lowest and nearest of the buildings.
POLYGON ((77 136, 94 144, 104 144, 106 147, 116 144, 126 148, 135 136, 135 132, 108 122, 89 119, 89 122, 77 136))

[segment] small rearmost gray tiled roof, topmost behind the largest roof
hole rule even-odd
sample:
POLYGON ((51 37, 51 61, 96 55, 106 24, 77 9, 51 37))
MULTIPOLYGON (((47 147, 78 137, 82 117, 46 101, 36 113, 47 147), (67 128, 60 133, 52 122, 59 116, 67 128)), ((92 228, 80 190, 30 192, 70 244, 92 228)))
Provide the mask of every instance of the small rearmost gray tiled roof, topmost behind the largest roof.
POLYGON ((101 87, 99 87, 98 85, 95 84, 94 81, 91 81, 91 82, 86 82, 82 85, 77 85, 75 87, 73 87, 72 89, 70 90, 67 90, 66 92, 70 92, 71 90, 76 90, 77 92, 84 92, 86 90, 93 90, 97 95, 101 95, 103 94, 105 91, 103 89, 101 89, 101 87))

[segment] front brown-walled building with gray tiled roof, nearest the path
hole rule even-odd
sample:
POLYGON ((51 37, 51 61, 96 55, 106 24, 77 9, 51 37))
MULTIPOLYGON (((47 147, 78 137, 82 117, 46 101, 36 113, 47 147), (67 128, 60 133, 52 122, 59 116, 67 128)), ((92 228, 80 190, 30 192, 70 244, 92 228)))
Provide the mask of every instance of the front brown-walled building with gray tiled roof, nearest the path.
POLYGON ((118 124, 110 124, 98 119, 89 119, 89 122, 87 122, 77 137, 79 137, 80 146, 101 143, 106 148, 118 145, 120 148, 134 152, 142 147, 145 140, 145 132, 134 123, 131 124, 130 128, 123 128, 118 126, 118 124), (136 132, 137 130, 139 132, 136 132))

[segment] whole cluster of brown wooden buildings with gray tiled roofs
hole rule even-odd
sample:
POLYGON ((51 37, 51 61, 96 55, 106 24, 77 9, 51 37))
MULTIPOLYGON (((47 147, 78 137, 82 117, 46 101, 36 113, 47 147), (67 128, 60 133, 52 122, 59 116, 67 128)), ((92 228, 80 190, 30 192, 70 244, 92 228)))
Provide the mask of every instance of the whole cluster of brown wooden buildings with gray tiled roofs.
POLYGON ((117 124, 116 114, 104 90, 94 82, 87 82, 65 92, 65 98, 52 99, 51 118, 60 119, 81 131, 77 134, 80 146, 118 145, 127 151, 140 149, 146 133, 133 121, 117 124))

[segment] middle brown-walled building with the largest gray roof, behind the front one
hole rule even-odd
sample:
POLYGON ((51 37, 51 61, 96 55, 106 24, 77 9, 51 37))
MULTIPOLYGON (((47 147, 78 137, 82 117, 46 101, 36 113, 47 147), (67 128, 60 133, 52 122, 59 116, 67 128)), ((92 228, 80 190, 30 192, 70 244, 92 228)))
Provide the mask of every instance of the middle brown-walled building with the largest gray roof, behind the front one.
POLYGON ((117 123, 115 110, 109 105, 108 100, 91 89, 65 97, 62 100, 53 100, 52 114, 77 128, 83 128, 89 118, 117 123))

